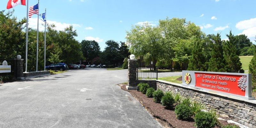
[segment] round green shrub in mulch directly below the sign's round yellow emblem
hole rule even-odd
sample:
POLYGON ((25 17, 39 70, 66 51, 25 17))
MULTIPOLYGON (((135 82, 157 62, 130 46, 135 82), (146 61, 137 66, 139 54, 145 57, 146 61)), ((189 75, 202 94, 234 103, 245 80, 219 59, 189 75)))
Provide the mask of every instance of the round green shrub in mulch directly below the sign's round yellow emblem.
POLYGON ((174 112, 179 120, 188 120, 193 115, 192 109, 188 104, 177 105, 174 112))

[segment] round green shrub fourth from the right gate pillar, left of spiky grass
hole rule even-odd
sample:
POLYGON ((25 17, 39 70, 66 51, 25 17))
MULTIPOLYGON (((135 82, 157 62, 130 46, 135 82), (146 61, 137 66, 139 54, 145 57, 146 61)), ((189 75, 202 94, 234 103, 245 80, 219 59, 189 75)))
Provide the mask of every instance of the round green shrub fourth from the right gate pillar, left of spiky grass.
POLYGON ((164 96, 161 98, 161 103, 165 108, 172 108, 174 104, 174 98, 171 92, 165 92, 164 96))

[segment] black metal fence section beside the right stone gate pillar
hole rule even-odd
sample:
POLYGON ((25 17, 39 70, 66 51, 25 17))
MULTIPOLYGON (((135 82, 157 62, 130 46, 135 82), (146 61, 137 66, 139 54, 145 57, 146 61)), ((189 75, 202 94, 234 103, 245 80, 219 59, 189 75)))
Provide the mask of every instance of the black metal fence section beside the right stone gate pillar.
POLYGON ((137 80, 139 78, 153 78, 157 80, 157 70, 158 68, 156 68, 156 70, 154 70, 154 68, 137 68, 137 80))

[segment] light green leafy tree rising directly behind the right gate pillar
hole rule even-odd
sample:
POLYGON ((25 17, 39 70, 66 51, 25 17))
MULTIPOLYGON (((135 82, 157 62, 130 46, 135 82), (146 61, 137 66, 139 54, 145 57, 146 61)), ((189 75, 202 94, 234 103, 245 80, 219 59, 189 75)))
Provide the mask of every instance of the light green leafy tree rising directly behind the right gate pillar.
POLYGON ((160 29, 145 23, 142 26, 132 26, 132 29, 126 33, 129 51, 136 57, 144 56, 143 60, 146 63, 153 61, 156 68, 157 59, 164 53, 160 29))

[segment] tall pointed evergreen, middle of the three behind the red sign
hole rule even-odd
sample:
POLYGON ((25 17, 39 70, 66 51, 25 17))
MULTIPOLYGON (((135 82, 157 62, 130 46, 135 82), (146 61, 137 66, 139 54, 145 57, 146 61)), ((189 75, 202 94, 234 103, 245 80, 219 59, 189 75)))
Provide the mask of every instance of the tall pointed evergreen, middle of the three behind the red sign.
POLYGON ((220 34, 212 35, 212 52, 209 60, 208 71, 212 72, 226 72, 225 59, 223 57, 222 41, 220 34))

